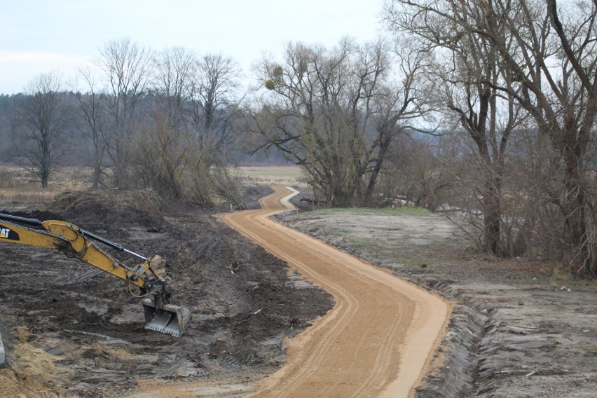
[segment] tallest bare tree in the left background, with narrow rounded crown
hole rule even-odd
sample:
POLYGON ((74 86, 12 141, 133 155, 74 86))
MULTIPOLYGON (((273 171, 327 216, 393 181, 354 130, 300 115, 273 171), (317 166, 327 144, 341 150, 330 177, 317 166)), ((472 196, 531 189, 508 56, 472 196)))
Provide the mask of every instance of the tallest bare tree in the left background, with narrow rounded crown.
POLYGON ((146 92, 151 69, 151 51, 130 39, 109 41, 100 50, 95 65, 107 81, 105 106, 112 121, 103 132, 114 163, 116 186, 128 184, 128 139, 135 121, 135 110, 146 92))

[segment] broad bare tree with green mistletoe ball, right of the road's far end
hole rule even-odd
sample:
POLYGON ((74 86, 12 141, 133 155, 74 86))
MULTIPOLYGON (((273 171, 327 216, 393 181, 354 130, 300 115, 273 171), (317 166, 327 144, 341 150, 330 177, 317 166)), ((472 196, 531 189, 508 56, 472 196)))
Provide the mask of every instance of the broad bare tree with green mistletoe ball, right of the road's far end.
POLYGON ((413 84, 420 58, 402 60, 406 76, 394 83, 383 41, 344 39, 333 50, 289 43, 283 64, 264 59, 257 71, 268 90, 255 120, 262 148, 275 146, 303 167, 325 202, 364 203, 393 137, 422 111, 413 84))

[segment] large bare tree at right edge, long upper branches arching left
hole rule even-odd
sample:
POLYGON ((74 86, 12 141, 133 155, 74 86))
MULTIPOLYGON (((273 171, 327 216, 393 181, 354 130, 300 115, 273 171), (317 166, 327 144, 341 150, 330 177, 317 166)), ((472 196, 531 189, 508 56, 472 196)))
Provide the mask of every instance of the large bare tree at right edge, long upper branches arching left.
POLYGON ((429 36, 473 33, 495 50, 508 84, 492 88, 516 99, 549 137, 560 160, 561 189, 549 193, 577 275, 597 276, 595 195, 587 190, 589 144, 597 114, 597 2, 580 0, 388 1, 393 21, 429 21, 429 36))

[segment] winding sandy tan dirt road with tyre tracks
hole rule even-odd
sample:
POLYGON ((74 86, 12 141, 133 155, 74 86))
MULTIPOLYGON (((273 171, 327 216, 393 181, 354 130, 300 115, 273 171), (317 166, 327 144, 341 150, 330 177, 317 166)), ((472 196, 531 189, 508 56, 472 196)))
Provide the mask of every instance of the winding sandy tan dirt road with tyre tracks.
MULTIPOLYGON (((411 397, 448 323, 449 303, 345 252, 270 220, 287 211, 276 187, 261 210, 226 223, 334 296, 336 305, 288 342, 288 362, 255 397, 411 397)), ((296 303, 300 306, 301 303, 296 303)))

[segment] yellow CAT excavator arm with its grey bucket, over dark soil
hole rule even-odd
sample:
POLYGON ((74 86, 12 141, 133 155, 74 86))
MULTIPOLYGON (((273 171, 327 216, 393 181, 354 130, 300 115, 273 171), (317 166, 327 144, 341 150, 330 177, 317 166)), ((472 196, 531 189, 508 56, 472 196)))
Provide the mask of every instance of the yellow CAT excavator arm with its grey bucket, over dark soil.
POLYGON ((68 257, 125 280, 130 294, 143 298, 146 329, 181 336, 191 321, 191 311, 170 304, 170 278, 160 277, 151 259, 67 221, 40 221, 3 213, 0 213, 0 220, 0 242, 57 249, 68 257), (139 262, 135 266, 128 266, 91 240, 128 253, 139 262), (132 285, 138 288, 139 294, 132 292, 132 285))

